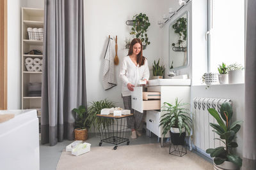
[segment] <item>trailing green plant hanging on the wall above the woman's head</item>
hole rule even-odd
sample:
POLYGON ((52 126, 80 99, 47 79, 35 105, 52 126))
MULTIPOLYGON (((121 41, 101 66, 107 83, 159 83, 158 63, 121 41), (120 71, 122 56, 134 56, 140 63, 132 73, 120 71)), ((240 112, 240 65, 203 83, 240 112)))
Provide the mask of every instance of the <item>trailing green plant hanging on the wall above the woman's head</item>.
POLYGON ((147 30, 150 26, 150 22, 145 13, 139 13, 132 17, 133 25, 131 35, 136 36, 136 38, 140 38, 142 41, 143 50, 145 50, 147 45, 150 45, 150 41, 148 41, 147 30))

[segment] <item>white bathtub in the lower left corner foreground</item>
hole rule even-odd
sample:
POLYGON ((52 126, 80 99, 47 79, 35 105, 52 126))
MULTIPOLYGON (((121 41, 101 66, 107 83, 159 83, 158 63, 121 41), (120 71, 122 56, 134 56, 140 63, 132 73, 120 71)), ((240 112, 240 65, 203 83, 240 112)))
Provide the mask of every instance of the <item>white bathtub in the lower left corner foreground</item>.
POLYGON ((39 170, 36 110, 0 110, 15 117, 0 123, 0 169, 39 170))

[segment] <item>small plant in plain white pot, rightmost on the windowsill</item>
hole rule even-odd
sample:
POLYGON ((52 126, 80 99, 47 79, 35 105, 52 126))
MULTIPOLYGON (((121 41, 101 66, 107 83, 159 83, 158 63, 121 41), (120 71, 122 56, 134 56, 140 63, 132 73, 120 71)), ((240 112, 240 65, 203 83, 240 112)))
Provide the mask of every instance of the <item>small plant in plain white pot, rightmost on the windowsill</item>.
POLYGON ((228 65, 228 82, 244 83, 244 67, 241 64, 228 65))

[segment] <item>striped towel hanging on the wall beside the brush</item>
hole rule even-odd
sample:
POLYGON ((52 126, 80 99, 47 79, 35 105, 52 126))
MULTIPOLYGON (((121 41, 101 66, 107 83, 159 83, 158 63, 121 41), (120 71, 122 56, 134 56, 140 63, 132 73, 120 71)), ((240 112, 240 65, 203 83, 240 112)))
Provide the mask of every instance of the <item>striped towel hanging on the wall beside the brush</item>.
POLYGON ((116 86, 116 76, 113 55, 111 54, 111 38, 108 39, 108 46, 103 59, 103 89, 108 90, 116 86))

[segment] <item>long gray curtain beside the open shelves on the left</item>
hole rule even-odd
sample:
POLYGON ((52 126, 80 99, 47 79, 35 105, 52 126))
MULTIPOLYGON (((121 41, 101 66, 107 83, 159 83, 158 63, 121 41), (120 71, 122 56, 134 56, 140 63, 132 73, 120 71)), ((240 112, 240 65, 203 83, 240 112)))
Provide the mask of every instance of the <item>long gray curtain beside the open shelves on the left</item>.
POLYGON ((74 139, 73 108, 86 106, 83 0, 45 0, 41 143, 74 139))

